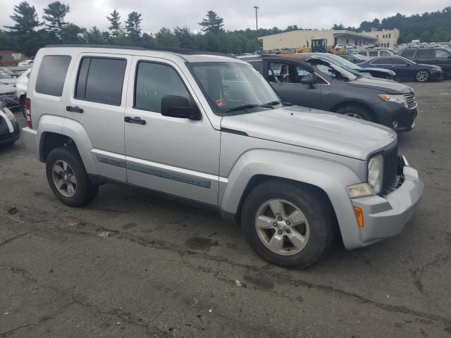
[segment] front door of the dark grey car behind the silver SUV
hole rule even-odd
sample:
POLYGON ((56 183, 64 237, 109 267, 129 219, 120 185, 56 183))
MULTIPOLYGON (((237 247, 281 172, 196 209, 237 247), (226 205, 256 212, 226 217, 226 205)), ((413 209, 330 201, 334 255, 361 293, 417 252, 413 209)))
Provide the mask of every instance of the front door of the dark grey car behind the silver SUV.
POLYGON ((297 106, 321 108, 321 85, 303 84, 302 77, 313 76, 310 70, 289 61, 265 61, 264 73, 283 101, 297 106))

